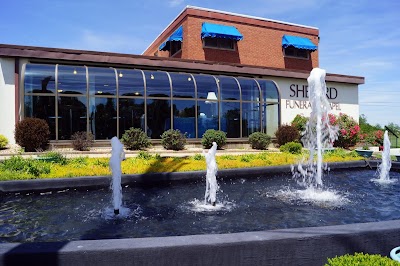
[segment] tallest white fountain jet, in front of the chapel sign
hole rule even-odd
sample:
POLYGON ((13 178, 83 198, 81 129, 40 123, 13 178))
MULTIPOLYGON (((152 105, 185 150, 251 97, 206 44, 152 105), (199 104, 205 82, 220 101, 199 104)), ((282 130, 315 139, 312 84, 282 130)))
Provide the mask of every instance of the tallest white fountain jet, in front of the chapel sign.
MULTIPOLYGON (((329 122, 331 107, 325 95, 325 75, 325 70, 314 68, 307 79, 312 111, 305 132, 303 132, 302 142, 304 147, 310 151, 310 157, 304 165, 303 159, 297 168, 292 168, 293 176, 299 180, 299 183, 312 191, 314 188, 323 187, 323 151, 332 148, 333 142, 338 136, 338 128, 329 122)), ((326 169, 326 167, 325 164, 324 168, 326 169)))

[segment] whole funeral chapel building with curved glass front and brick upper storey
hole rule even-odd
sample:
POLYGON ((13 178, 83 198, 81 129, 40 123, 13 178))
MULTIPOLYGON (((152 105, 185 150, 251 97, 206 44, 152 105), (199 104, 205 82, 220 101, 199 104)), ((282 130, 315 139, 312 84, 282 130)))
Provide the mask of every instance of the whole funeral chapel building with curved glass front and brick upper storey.
MULTIPOLYGON (((0 44, 0 134, 14 143, 18 121, 38 117, 51 142, 77 131, 97 143, 141 128, 158 142, 168 129, 199 143, 207 129, 228 143, 273 136, 308 115, 307 77, 318 67, 319 30, 186 7, 143 55, 0 44)), ((359 117, 363 77, 326 75, 334 113, 359 117)))

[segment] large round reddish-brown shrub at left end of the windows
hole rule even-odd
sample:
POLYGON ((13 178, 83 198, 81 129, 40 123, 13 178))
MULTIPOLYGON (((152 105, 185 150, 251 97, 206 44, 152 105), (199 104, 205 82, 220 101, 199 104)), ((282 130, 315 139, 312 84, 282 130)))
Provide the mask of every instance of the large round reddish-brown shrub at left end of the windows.
POLYGON ((25 151, 44 149, 49 142, 49 125, 40 118, 27 117, 15 126, 15 141, 25 151))

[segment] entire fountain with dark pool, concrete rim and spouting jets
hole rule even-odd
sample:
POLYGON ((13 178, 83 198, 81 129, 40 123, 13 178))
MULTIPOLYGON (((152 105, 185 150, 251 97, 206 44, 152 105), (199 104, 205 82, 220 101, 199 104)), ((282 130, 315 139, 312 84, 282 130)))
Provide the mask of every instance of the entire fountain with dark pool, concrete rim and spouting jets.
MULTIPOLYGON (((0 265, 40 259, 42 264, 112 265, 132 258, 138 265, 322 265, 327 257, 354 251, 387 256, 398 246, 400 182, 385 188, 365 182, 375 173, 365 161, 331 163, 335 171, 322 182, 323 149, 336 137, 323 98, 324 76, 316 69, 308 79, 313 112, 304 144, 310 159, 297 166, 299 182, 290 178, 290 166, 219 170, 224 192, 237 204, 195 212, 188 202, 204 192, 204 171, 121 177, 123 146, 114 137, 114 212, 123 209, 121 184, 124 205, 140 211, 104 219, 109 176, 0 182, 0 265), (317 196, 276 196, 285 186, 296 191, 308 186, 317 196), (322 188, 342 191, 346 200, 310 204, 329 194, 322 188)), ((213 143, 204 153, 208 206, 216 203, 219 189, 216 149, 213 143)), ((393 163, 392 170, 399 178, 400 164, 393 163)))

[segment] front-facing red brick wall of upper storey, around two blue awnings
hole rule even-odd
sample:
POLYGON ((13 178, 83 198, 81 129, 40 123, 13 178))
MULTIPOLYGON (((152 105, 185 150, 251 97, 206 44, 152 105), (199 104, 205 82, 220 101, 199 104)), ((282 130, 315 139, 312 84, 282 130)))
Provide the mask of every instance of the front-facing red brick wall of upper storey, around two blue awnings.
POLYGON ((265 67, 311 70, 318 66, 318 50, 311 53, 310 60, 285 58, 282 52, 282 36, 284 34, 307 37, 318 45, 318 37, 293 33, 280 29, 266 28, 256 25, 227 23, 204 18, 189 17, 187 32, 184 35, 182 58, 194 60, 240 63, 265 67), (243 35, 237 42, 237 50, 220 50, 203 48, 201 40, 201 24, 203 22, 220 23, 235 26, 243 35))

